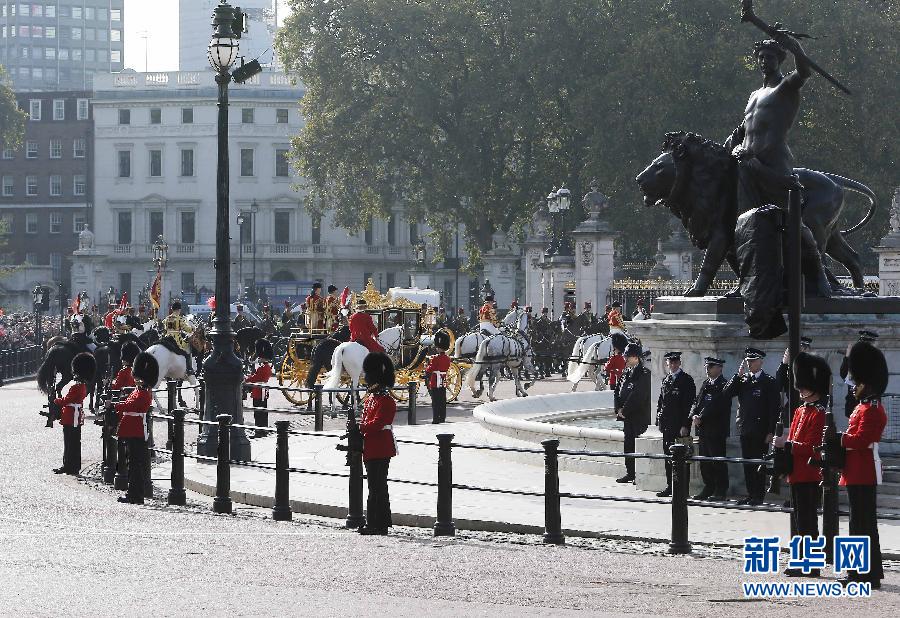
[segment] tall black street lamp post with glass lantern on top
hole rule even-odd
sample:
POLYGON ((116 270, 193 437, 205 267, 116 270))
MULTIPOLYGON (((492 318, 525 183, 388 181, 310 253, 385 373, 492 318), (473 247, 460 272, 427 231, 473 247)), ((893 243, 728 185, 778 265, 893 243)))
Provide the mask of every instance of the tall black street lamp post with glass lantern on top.
MULTIPOLYGON (((245 16, 227 2, 221 2, 213 13, 215 31, 209 42, 209 62, 216 71, 219 87, 218 165, 216 172, 216 309, 210 337, 212 353, 203 364, 206 379, 205 419, 214 421, 228 414, 232 424, 243 424, 241 360, 234 353, 234 332, 231 330, 231 246, 229 238, 229 175, 228 175, 228 84, 230 69, 238 57, 238 39, 244 31, 245 16)), ((249 67, 250 65, 246 65, 249 67)), ((257 67, 259 65, 257 64, 257 67)), ((244 66, 242 65, 242 69, 244 66)), ((257 71, 258 72, 258 71, 257 71)), ((253 76, 241 71, 243 82, 253 76)), ((234 76, 237 78, 237 76, 234 76)), ((204 425, 197 440, 197 452, 214 457, 218 451, 218 425, 204 425), (210 429, 212 428, 212 429, 210 429)), ((231 456, 237 461, 250 460, 250 441, 243 429, 231 428, 231 456)))

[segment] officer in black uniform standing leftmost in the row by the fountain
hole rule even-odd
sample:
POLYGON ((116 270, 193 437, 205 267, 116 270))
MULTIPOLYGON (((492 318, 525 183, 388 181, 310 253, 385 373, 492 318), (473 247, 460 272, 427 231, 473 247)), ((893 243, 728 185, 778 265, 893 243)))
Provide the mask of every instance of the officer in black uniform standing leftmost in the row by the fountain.
MULTIPOLYGON (((644 366, 644 353, 636 343, 625 346, 625 372, 618 383, 616 418, 624 423, 624 453, 634 452, 634 441, 650 426, 650 369, 644 366)), ((634 482, 634 459, 625 459, 625 476, 617 483, 634 482)))

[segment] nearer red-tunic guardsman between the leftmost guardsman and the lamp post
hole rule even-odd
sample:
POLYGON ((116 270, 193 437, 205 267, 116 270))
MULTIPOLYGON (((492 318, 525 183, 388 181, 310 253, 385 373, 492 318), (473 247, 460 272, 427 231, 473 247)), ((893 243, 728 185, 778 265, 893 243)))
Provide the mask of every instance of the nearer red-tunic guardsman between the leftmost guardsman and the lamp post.
POLYGON ((119 498, 119 502, 143 504, 144 486, 149 472, 147 416, 153 406, 153 394, 150 389, 159 380, 159 365, 152 355, 141 352, 134 359, 132 373, 137 388, 125 398, 125 401, 115 405, 119 416, 119 430, 116 435, 124 442, 128 454, 128 491, 119 498))

